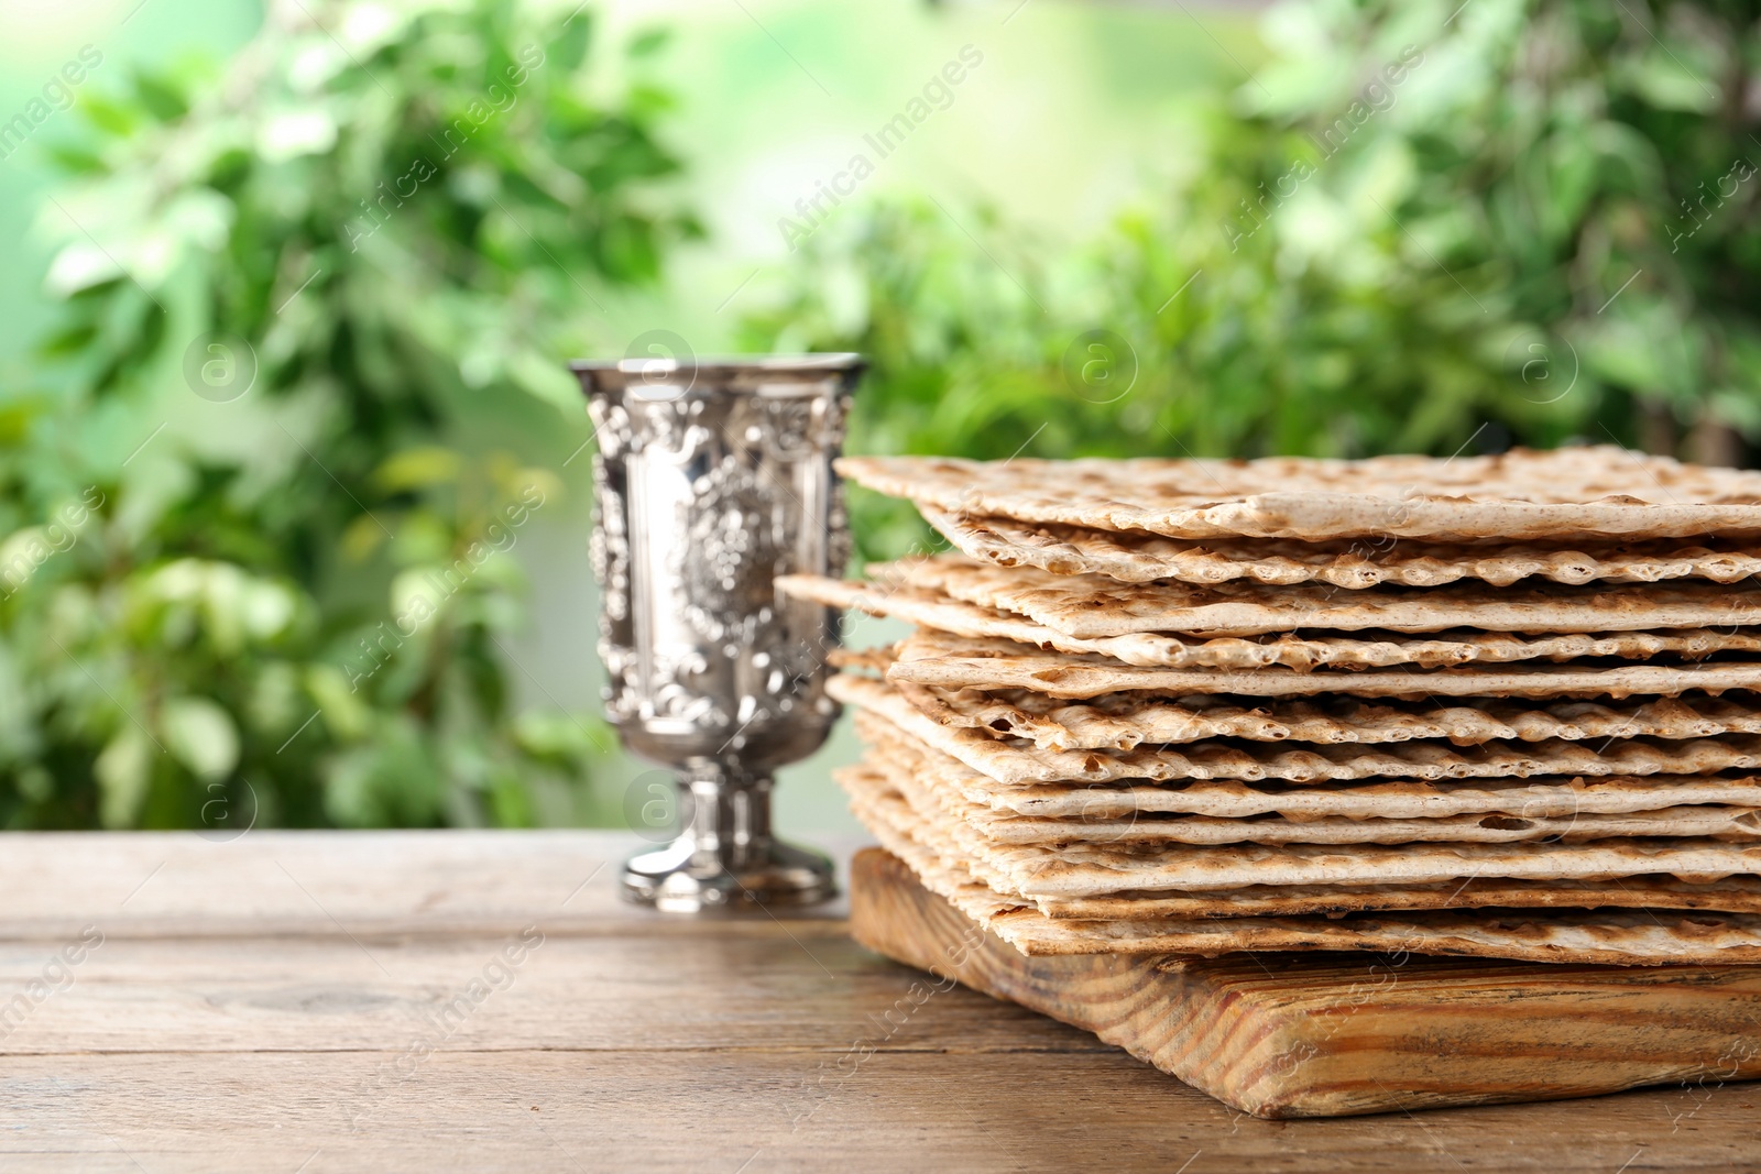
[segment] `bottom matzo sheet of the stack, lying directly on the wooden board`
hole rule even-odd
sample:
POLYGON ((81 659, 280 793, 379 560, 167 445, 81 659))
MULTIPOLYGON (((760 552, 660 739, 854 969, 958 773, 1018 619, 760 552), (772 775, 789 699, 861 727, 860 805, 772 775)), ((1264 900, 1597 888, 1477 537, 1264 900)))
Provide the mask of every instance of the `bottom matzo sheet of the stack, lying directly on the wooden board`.
MULTIPOLYGON (((849 774, 847 774, 849 776, 849 774)), ((882 803, 903 806, 896 797, 882 803)), ((932 892, 1025 954, 1226 954, 1233 950, 1381 950, 1555 963, 1761 961, 1761 917, 1675 912, 1495 910, 1377 917, 1051 919, 1011 901, 893 829, 870 806, 877 838, 932 892), (880 829, 886 829, 884 834, 880 829)))

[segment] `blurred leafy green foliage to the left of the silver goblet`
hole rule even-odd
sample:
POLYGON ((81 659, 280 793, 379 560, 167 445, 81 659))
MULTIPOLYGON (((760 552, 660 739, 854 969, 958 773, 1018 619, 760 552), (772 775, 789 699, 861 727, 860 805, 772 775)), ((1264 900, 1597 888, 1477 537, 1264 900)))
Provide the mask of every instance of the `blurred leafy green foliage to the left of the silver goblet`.
POLYGON ((604 93, 571 7, 276 4, 220 76, 81 90, 0 400, 0 824, 592 817, 609 736, 504 667, 562 482, 461 421, 578 417, 593 290, 699 231, 667 95, 604 93))

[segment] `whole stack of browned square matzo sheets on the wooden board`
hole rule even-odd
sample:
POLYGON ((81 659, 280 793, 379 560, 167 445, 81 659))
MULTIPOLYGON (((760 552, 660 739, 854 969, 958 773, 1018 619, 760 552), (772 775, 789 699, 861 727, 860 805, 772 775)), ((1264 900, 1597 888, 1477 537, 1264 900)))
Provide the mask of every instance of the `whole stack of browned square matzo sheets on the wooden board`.
POLYGON ((851 458, 863 822, 1025 952, 1761 961, 1761 473, 851 458))

